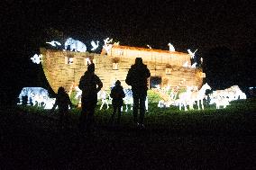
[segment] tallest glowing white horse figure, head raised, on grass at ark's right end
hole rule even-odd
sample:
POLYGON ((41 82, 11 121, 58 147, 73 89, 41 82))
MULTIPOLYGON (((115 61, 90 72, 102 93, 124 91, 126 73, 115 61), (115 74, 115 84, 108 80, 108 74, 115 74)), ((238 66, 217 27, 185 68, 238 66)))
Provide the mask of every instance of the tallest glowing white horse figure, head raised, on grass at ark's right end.
MULTIPOLYGON (((211 90, 212 88, 210 87, 210 85, 208 85, 207 83, 205 85, 203 85, 200 90, 196 90, 196 91, 193 91, 192 92, 192 95, 191 95, 191 102, 190 103, 194 103, 197 101, 197 108, 198 110, 200 110, 200 103, 201 103, 201 108, 202 110, 205 109, 204 107, 204 98, 206 96, 206 90, 211 90)), ((194 109, 193 108, 193 105, 190 106, 189 108, 191 108, 192 110, 194 109)))

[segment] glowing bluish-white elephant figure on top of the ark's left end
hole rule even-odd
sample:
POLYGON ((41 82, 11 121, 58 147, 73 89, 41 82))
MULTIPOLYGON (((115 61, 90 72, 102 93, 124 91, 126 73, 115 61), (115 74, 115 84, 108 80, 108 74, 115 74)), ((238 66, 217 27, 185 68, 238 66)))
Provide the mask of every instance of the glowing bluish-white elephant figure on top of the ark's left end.
POLYGON ((69 38, 65 42, 65 49, 68 49, 68 46, 70 47, 70 51, 78 51, 78 52, 86 52, 87 51, 87 46, 79 41, 79 40, 74 40, 72 38, 69 38))

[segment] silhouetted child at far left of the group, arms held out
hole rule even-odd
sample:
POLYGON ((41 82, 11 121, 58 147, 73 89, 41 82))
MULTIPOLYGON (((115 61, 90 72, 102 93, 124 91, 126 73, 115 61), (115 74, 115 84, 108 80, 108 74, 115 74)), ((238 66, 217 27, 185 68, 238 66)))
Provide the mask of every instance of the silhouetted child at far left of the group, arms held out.
POLYGON ((73 104, 70 101, 69 94, 65 91, 64 87, 60 86, 56 95, 56 101, 50 112, 53 112, 58 106, 59 110, 59 125, 62 128, 66 126, 69 121, 69 107, 72 108, 73 104))

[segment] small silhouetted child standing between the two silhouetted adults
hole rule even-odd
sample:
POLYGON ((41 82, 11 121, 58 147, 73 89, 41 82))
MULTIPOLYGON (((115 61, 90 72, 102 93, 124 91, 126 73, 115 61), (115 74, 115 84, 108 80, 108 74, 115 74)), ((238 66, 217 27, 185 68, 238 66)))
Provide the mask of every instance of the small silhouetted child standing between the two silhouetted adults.
POLYGON ((123 98, 125 94, 123 92, 123 86, 121 85, 121 82, 117 80, 115 82, 115 86, 112 88, 110 97, 112 100, 112 106, 113 106, 113 113, 110 119, 110 123, 113 123, 114 121, 114 115, 117 112, 117 124, 120 124, 121 119, 121 108, 123 106, 123 98))

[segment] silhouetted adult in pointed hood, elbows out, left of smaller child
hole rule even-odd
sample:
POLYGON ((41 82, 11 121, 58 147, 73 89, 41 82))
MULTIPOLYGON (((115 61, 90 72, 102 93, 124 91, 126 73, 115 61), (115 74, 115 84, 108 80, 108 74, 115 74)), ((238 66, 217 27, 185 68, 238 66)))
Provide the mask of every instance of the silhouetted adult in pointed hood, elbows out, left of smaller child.
POLYGON ((82 112, 79 119, 79 130, 81 132, 90 132, 94 121, 94 113, 97 103, 97 93, 103 87, 98 76, 95 75, 95 64, 87 67, 84 76, 81 76, 79 89, 82 90, 81 106, 82 112))

